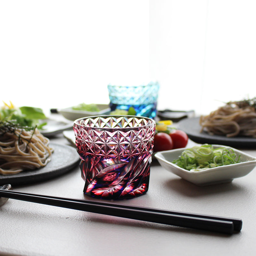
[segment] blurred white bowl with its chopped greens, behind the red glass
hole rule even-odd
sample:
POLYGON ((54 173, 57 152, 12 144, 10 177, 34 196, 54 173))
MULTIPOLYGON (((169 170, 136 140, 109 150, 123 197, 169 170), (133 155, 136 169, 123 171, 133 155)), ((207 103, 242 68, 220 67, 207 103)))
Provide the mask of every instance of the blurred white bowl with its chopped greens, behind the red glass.
POLYGON ((80 103, 70 108, 63 108, 58 111, 68 120, 76 120, 86 116, 100 116, 110 113, 108 104, 85 104, 80 103))

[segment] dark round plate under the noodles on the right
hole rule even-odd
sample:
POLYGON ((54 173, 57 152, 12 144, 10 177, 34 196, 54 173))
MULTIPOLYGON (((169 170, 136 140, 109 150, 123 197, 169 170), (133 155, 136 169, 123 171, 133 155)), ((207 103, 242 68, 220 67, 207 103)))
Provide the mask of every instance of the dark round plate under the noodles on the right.
POLYGON ((239 148, 255 148, 256 138, 249 137, 232 137, 228 138, 220 135, 210 135, 206 132, 201 131, 201 125, 199 124, 199 117, 186 118, 178 123, 180 130, 183 130, 188 134, 189 139, 200 143, 208 144, 220 144, 229 147, 239 148))

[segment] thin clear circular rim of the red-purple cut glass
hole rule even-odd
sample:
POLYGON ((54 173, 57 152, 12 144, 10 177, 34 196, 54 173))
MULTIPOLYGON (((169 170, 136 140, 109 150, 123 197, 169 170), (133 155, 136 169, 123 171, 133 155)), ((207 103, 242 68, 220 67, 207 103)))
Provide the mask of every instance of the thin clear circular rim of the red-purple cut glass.
POLYGON ((145 116, 130 116, 130 115, 98 115, 98 116, 85 116, 85 117, 81 117, 81 118, 78 118, 74 121, 74 125, 78 125, 78 126, 81 126, 81 127, 86 127, 86 128, 91 128, 91 129, 97 129, 97 130, 122 130, 122 129, 138 129, 138 128, 145 128, 145 127, 148 127, 148 126, 151 126, 152 124, 156 124, 156 121, 152 118, 149 118, 149 117, 145 117, 145 116), (147 119, 148 121, 151 121, 150 123, 148 124, 144 124, 144 125, 139 125, 139 126, 132 126, 132 127, 95 127, 95 126, 90 126, 90 125, 84 125, 84 124, 79 124, 78 122, 80 120, 86 120, 88 118, 92 118, 92 119, 95 119, 97 117, 103 117, 103 118, 108 118, 108 117, 135 117, 135 118, 143 118, 143 119, 147 119))

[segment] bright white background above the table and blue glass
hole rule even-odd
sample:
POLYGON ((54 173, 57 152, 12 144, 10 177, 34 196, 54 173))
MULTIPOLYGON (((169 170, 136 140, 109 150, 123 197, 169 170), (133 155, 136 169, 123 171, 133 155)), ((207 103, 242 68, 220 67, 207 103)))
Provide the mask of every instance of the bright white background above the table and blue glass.
POLYGON ((256 96, 255 13, 249 0, 0 0, 0 100, 47 112, 157 80, 159 110, 208 114, 256 96))

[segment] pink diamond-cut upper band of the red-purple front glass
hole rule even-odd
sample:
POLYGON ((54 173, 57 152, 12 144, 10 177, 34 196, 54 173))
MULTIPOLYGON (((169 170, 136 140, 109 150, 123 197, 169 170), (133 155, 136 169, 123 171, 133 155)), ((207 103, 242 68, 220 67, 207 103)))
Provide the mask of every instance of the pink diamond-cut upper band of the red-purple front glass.
POLYGON ((89 117, 74 124, 80 156, 134 157, 152 151, 155 122, 138 117, 89 117))

